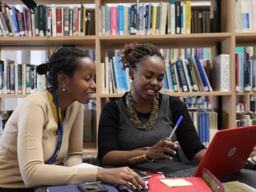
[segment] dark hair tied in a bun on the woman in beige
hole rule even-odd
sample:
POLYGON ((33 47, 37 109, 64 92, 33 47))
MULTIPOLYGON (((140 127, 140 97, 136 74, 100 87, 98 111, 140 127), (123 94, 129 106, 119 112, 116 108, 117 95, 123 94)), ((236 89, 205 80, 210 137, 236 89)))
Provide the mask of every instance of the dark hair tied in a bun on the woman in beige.
POLYGON ((56 48, 52 56, 50 56, 50 52, 48 52, 47 56, 49 62, 44 62, 37 66, 36 72, 39 75, 45 75, 48 72, 47 79, 55 89, 59 85, 57 76, 60 73, 72 78, 73 73, 78 69, 79 61, 89 57, 87 53, 76 47, 62 47, 59 50, 56 48))

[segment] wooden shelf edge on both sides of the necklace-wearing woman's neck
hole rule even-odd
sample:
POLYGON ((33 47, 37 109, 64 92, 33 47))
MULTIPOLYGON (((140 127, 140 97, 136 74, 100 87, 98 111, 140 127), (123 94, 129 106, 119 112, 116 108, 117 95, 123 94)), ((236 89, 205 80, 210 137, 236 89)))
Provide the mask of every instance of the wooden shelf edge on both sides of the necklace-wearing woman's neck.
MULTIPOLYGON (((232 91, 212 91, 212 92, 165 92, 165 95, 171 95, 175 97, 184 97, 184 96, 230 96, 232 91)), ((107 97, 122 97, 124 94, 100 94, 101 98, 107 97)))

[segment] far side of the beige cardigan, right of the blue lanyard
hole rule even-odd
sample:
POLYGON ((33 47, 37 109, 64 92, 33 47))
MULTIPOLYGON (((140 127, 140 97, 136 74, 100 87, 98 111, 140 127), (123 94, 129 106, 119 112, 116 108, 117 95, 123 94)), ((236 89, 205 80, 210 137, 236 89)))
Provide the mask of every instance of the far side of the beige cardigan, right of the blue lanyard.
POLYGON ((64 158, 64 165, 72 167, 82 163, 83 149, 83 130, 84 130, 84 109, 79 104, 78 114, 71 128, 69 135, 68 153, 64 158))

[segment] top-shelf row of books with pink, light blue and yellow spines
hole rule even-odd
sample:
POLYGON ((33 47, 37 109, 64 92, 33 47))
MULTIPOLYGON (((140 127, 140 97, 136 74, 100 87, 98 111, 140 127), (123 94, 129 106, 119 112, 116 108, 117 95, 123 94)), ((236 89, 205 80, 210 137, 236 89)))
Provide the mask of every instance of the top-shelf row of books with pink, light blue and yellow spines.
POLYGON ((100 36, 215 33, 216 12, 191 11, 191 1, 100 6, 100 36))

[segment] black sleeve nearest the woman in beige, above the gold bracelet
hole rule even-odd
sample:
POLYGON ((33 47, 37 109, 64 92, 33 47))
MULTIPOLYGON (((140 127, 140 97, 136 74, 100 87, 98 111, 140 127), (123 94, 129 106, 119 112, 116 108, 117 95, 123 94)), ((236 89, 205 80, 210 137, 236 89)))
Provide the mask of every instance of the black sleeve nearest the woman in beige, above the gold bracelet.
POLYGON ((116 102, 106 103, 101 110, 98 125, 98 158, 103 157, 110 151, 119 150, 117 140, 117 126, 119 123, 119 107, 116 102))

